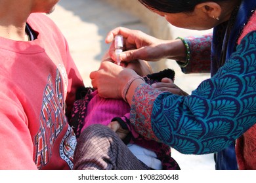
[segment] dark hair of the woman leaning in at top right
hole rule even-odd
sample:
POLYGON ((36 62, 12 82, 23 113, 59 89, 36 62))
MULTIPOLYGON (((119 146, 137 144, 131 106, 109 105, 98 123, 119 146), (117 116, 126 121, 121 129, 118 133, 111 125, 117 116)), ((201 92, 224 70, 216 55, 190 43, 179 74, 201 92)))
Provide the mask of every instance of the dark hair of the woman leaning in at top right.
MULTIPOLYGON (((150 10, 158 10, 160 12, 178 13, 192 12, 196 5, 207 2, 209 0, 139 0, 142 5, 150 10)), ((211 0, 215 3, 227 0, 211 0)))

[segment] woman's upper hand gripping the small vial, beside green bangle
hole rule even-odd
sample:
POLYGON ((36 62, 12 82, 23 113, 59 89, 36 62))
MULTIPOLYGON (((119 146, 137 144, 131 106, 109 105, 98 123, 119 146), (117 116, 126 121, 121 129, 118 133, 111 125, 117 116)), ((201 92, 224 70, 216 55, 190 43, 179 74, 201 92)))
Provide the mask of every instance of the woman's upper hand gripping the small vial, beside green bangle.
MULTIPOLYGON (((114 37, 123 35, 124 50, 120 56, 121 61, 132 61, 135 59, 144 59, 147 61, 156 61, 161 58, 169 57, 169 44, 172 41, 156 39, 142 31, 131 30, 125 27, 117 27, 108 33, 105 42, 112 42, 109 54, 112 59, 116 60, 114 51, 114 37)), ((181 42, 182 44, 182 42, 181 42)), ((176 45, 177 46, 177 45, 176 45)), ((184 47, 184 46, 183 46, 184 47)), ((182 48, 182 47, 181 47, 182 48)))

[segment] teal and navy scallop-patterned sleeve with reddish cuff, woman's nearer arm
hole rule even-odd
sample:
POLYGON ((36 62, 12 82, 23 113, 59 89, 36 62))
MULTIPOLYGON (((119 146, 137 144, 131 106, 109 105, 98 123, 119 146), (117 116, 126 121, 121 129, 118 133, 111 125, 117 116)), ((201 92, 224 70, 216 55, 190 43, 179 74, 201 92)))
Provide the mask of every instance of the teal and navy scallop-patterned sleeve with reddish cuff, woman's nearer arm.
POLYGON ((226 148, 256 123, 256 31, 244 37, 215 76, 187 97, 140 85, 131 122, 141 135, 183 154, 226 148))

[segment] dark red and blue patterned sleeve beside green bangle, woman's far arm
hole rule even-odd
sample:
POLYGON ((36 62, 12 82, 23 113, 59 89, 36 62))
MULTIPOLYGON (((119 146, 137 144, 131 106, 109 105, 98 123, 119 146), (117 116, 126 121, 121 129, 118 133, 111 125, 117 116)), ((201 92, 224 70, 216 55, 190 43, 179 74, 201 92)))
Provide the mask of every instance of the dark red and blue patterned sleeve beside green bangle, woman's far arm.
MULTIPOLYGON (((181 38, 179 38, 181 39, 181 38)), ((182 39, 186 45, 188 54, 186 64, 180 65, 183 73, 209 73, 211 67, 211 40, 212 35, 203 35, 198 37, 186 37, 182 39)))

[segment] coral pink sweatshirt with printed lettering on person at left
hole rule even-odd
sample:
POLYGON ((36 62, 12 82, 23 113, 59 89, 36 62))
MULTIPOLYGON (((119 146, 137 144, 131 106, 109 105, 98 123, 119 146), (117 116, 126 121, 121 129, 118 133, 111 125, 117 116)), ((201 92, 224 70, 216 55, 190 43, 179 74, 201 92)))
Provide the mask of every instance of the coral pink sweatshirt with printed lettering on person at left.
POLYGON ((28 24, 34 41, 0 37, 0 169, 72 169, 65 109, 83 82, 53 21, 31 14, 28 24))

